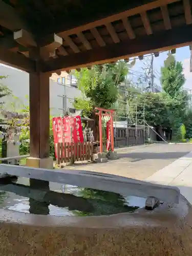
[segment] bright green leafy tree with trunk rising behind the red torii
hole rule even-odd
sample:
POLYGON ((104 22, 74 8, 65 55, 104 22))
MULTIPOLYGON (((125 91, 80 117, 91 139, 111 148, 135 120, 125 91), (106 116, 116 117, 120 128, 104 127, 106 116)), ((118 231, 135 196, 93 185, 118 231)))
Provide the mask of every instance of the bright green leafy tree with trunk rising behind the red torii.
MULTIPOLYGON (((130 65, 133 64, 132 62, 130 65)), ((96 140, 98 117, 94 113, 94 107, 110 109, 113 106, 118 98, 118 86, 124 81, 130 65, 125 61, 118 61, 102 66, 95 65, 91 69, 82 68, 80 72, 75 72, 82 96, 75 99, 74 107, 94 119, 92 125, 96 140)))

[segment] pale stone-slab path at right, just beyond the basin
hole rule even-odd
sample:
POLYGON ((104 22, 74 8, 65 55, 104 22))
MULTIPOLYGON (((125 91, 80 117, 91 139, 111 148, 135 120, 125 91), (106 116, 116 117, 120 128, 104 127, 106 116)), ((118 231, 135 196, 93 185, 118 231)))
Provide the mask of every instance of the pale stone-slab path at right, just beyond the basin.
POLYGON ((160 169, 145 181, 177 186, 180 193, 192 204, 192 151, 160 169))

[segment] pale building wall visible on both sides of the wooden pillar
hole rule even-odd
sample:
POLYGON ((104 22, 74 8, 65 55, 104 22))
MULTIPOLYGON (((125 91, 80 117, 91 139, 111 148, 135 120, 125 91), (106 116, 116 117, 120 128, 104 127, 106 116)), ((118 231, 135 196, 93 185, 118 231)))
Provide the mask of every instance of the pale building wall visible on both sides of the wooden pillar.
MULTIPOLYGON (((5 105, 8 109, 19 111, 22 104, 29 105, 29 74, 11 68, 5 65, 0 65, 0 75, 7 76, 1 82, 7 86, 13 93, 14 97, 4 97, 5 105)), ((61 72, 58 76, 56 73, 50 77, 50 114, 59 116, 68 108, 73 108, 75 97, 79 97, 81 92, 77 89, 76 79, 73 75, 67 72, 61 72)))

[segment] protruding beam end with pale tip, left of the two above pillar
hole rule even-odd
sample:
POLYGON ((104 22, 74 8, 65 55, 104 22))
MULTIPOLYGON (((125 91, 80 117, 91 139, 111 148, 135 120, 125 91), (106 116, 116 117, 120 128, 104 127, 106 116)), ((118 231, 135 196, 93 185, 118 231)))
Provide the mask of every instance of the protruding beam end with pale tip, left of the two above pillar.
POLYGON ((18 44, 25 47, 36 47, 36 41, 33 38, 33 35, 24 29, 20 29, 17 32, 14 32, 14 40, 18 44))

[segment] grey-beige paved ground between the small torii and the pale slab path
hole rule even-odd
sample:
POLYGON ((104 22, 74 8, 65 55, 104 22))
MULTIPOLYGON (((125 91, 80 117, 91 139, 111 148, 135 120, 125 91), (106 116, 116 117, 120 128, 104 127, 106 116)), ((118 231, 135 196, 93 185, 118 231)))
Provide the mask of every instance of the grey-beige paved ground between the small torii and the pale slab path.
POLYGON ((144 180, 192 151, 192 144, 152 144, 119 148, 117 151, 118 160, 107 163, 76 163, 68 168, 92 170, 144 180))

